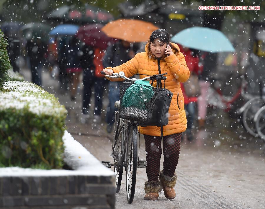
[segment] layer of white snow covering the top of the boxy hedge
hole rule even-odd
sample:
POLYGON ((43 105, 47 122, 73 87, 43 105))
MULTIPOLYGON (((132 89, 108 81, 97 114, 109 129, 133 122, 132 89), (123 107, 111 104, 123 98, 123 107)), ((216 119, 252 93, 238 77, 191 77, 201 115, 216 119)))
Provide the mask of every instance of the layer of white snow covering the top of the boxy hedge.
POLYGON ((40 115, 66 114, 54 95, 44 91, 36 84, 27 81, 7 81, 0 92, 0 110, 29 107, 29 112, 40 115))

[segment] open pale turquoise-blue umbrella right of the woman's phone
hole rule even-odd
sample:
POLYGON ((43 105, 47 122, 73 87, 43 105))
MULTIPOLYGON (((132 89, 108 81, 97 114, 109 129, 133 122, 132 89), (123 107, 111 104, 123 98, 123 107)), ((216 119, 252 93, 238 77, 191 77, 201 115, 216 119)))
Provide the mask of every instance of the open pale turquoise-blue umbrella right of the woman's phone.
POLYGON ((171 39, 184 47, 207 52, 234 52, 235 48, 219 30, 208 27, 190 27, 180 31, 171 39))

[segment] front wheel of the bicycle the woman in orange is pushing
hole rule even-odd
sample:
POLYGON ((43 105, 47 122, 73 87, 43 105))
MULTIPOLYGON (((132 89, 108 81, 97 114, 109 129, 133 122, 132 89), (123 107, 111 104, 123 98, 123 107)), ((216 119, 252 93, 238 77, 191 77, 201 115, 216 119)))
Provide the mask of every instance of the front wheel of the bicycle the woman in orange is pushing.
POLYGON ((126 193, 129 204, 132 203, 135 193, 137 151, 137 128, 133 123, 129 127, 126 148, 126 193))

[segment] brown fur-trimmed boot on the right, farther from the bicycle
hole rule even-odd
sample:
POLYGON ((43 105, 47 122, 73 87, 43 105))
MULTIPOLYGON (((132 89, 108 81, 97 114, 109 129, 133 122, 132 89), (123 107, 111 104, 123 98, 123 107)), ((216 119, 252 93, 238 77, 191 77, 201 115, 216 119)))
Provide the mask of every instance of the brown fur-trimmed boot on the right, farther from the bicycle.
POLYGON ((161 187, 163 187, 164 195, 166 198, 173 200, 176 197, 176 192, 174 190, 177 175, 174 173, 174 176, 166 176, 163 174, 163 170, 159 173, 159 180, 161 183, 161 187))

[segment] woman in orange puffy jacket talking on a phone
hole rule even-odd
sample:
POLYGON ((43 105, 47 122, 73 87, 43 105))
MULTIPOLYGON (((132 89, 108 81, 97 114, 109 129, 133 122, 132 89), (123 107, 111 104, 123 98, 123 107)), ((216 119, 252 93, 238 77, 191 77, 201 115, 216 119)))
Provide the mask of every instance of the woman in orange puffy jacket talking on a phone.
MULTIPOLYGON (((168 125, 163 126, 164 169, 162 171, 159 172, 162 154, 160 127, 140 127, 139 131, 145 138, 147 161, 148 181, 144 185, 144 199, 157 200, 161 189, 165 197, 174 199, 177 179, 175 169, 180 153, 181 135, 187 128, 184 98, 180 89, 180 82, 187 81, 190 76, 184 55, 178 45, 170 43, 168 32, 165 29, 158 29, 152 32, 145 46, 145 52, 136 54, 134 58, 120 66, 108 67, 103 71, 106 75, 123 71, 126 77, 137 73, 150 76, 167 73, 165 88, 173 93, 173 97, 169 107, 168 125)), ((141 79, 144 77, 147 76, 140 75, 141 79)), ((114 79, 109 80, 114 81, 114 79)), ((153 82, 153 86, 156 86, 156 82, 153 82)))

